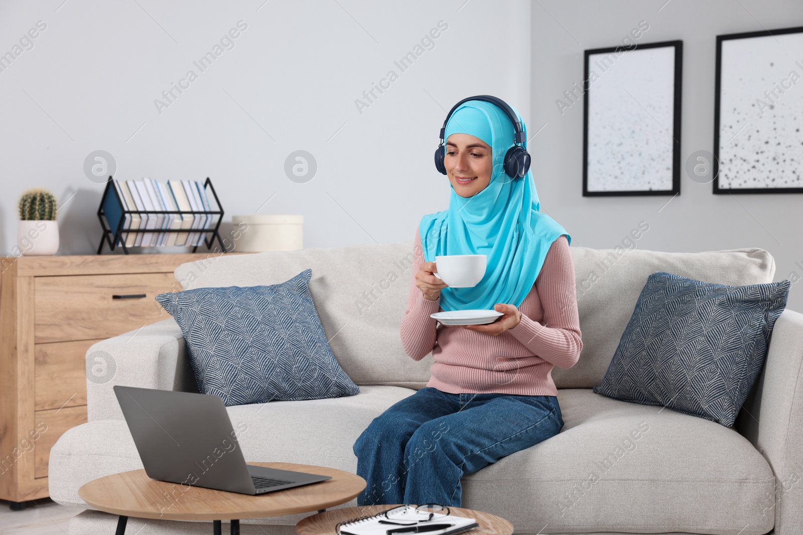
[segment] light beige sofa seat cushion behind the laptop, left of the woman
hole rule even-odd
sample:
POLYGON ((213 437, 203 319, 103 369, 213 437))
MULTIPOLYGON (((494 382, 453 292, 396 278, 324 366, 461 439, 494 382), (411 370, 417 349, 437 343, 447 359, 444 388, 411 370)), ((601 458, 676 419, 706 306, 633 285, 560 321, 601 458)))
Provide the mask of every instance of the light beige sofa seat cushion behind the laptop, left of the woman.
MULTIPOLYGON (((244 424, 238 442, 247 462, 317 464, 356 472, 354 441, 372 419, 414 392, 402 387, 361 387, 359 394, 347 397, 237 405, 226 410, 234 428, 244 424)), ((60 504, 85 507, 78 496, 81 485, 137 468, 142 468, 142 462, 124 420, 81 424, 65 432, 51 448, 50 495, 60 504)), ((356 499, 350 503, 357 505, 356 499)))

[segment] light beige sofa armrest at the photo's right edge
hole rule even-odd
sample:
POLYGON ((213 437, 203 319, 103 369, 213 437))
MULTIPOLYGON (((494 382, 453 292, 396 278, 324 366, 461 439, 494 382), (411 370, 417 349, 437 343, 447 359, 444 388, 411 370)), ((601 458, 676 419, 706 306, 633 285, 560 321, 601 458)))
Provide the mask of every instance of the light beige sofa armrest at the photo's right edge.
POLYGON ((803 314, 784 310, 737 429, 772 466, 775 496, 757 504, 775 516, 775 535, 803 533, 803 314))

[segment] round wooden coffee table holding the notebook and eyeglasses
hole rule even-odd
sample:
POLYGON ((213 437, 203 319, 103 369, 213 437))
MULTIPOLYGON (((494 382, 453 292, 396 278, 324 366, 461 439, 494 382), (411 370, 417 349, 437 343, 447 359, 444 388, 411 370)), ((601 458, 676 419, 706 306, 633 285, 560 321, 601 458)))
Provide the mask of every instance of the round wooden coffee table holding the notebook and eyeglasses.
MULTIPOLYGON (((398 505, 365 505, 363 507, 344 507, 324 511, 310 517, 301 519, 296 524, 298 535, 335 535, 335 525, 350 518, 362 517, 364 515, 375 515, 388 509, 393 509, 398 505)), ((455 517, 476 518, 475 529, 465 532, 467 535, 512 535, 513 525, 502 517, 497 517, 491 513, 483 513, 474 509, 462 509, 450 507, 450 514, 455 517)))

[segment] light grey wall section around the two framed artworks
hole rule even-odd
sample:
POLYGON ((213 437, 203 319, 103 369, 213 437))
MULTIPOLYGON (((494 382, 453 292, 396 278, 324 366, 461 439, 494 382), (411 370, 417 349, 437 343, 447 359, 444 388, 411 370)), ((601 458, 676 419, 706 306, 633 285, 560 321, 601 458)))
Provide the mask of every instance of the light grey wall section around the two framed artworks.
MULTIPOLYGON (((639 221, 650 229, 641 249, 711 251, 760 247, 775 258, 775 281, 803 278, 803 194, 714 195, 682 172, 680 195, 582 197, 583 104, 563 115, 556 99, 583 79, 583 51, 613 47, 638 22, 650 28, 638 43, 683 39, 681 164, 692 152, 713 152, 716 35, 803 26, 797 0, 539 0, 532 4, 533 169, 541 208, 572 234, 572 245, 621 244, 639 221), (670 201, 668 205, 666 202, 670 201), (666 205, 666 206, 665 206, 666 205), (794 275, 793 275, 794 273, 794 275)), ((803 51, 799 51, 803 59, 803 51)), ((798 157, 803 156, 803 151, 798 157)), ((626 246, 626 245, 623 245, 626 246)), ((803 311, 803 282, 788 307, 803 311)))

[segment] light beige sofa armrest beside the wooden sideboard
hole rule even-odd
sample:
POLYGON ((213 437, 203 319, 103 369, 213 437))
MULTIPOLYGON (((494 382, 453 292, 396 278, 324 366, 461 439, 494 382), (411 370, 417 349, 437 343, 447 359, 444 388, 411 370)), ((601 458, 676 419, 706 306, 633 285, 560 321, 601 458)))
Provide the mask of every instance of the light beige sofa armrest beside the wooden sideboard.
POLYGON ((96 419, 123 419, 116 384, 198 391, 184 335, 173 318, 92 345, 87 351, 87 411, 96 419))

